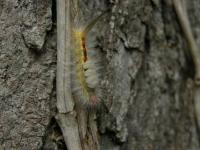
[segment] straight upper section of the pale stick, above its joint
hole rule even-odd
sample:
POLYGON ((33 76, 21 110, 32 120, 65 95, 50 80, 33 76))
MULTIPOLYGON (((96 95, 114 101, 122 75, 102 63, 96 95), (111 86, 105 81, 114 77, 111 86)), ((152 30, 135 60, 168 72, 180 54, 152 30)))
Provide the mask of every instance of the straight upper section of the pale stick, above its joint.
POLYGON ((59 112, 72 111, 70 81, 70 18, 69 0, 57 0, 57 107, 59 112), (61 63, 62 62, 62 63, 61 63), (68 91, 68 92, 66 92, 68 91))

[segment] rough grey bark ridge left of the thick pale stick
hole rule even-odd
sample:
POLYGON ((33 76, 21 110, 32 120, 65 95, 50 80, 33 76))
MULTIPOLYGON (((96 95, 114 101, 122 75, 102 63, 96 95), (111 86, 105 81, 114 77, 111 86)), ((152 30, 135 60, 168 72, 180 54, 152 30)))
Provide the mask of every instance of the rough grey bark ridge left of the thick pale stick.
MULTIPOLYGON (((39 149, 55 101, 51 0, 0 1, 0 145, 39 149)), ((1 148, 0 148, 1 149, 1 148)))

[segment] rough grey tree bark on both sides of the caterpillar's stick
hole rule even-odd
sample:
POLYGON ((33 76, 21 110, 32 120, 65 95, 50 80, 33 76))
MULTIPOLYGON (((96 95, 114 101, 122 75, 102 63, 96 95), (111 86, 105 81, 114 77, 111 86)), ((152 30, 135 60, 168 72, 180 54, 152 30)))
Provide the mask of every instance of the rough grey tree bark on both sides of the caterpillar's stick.
MULTIPOLYGON (((186 1, 186 0, 185 0, 186 1)), ((84 0, 103 56, 102 150, 198 150, 193 65, 170 0, 84 0)), ((200 44, 200 1, 186 1, 200 44)), ((0 149, 66 149, 55 120, 55 1, 0 0, 0 149), (60 142, 61 141, 61 142, 60 142)))

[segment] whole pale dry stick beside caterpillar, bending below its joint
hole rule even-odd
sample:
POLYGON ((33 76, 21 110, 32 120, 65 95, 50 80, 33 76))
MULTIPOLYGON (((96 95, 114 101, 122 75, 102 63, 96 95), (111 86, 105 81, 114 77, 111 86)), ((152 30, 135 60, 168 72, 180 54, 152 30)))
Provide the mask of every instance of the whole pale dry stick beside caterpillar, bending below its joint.
POLYGON ((56 119, 68 150, 82 150, 70 76, 70 0, 57 0, 57 108, 56 119))

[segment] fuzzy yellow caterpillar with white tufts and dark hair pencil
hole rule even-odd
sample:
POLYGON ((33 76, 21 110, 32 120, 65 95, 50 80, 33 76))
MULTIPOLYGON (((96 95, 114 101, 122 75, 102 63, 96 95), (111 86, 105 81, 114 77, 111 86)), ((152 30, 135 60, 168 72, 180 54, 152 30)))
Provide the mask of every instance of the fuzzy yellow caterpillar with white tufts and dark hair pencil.
POLYGON ((88 37, 88 33, 104 14, 106 12, 96 17, 85 28, 72 29, 72 95, 75 102, 86 108, 95 108, 100 103, 100 59, 95 53, 94 41, 89 40, 91 37, 88 37))

